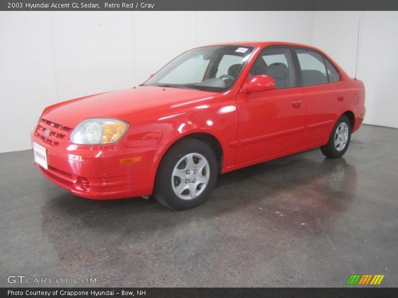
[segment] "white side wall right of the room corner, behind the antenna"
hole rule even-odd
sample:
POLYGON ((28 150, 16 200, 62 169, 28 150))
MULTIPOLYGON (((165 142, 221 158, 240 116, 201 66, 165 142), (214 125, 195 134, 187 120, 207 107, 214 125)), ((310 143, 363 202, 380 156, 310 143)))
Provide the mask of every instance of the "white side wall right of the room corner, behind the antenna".
POLYGON ((398 128, 397 36, 398 11, 314 11, 312 45, 351 76, 358 44, 357 77, 366 88, 364 123, 398 128))

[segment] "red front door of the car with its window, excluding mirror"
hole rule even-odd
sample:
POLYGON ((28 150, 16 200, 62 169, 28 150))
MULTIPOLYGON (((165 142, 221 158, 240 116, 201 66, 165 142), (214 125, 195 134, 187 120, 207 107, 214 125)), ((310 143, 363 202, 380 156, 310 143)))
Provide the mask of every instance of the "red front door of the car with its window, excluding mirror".
POLYGON ((272 76, 276 89, 237 96, 237 164, 300 147, 305 101, 293 58, 289 47, 273 46, 265 48, 253 64, 249 75, 272 76))

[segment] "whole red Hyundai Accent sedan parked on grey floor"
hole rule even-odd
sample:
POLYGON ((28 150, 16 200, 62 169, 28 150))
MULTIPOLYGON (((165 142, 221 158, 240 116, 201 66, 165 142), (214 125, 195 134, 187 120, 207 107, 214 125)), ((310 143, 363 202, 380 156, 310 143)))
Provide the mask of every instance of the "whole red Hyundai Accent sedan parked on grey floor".
POLYGON ((200 47, 143 84, 44 109, 35 163, 90 199, 153 194, 175 210, 206 200, 218 173, 314 147, 342 156, 365 115, 362 81, 285 42, 200 47))

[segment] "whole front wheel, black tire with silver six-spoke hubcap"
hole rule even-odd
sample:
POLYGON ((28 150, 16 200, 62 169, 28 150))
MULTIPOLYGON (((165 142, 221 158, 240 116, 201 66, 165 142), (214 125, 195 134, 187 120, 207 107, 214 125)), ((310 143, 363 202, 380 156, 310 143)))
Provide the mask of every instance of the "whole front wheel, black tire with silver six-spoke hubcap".
POLYGON ((213 150, 197 139, 185 139, 163 156, 154 196, 173 210, 194 208, 207 200, 216 179, 217 160, 213 150))

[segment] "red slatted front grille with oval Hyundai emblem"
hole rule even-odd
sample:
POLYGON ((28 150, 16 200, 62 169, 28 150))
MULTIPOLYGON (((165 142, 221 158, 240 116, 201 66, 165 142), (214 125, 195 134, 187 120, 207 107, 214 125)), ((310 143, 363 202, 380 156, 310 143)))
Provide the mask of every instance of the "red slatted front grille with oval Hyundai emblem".
POLYGON ((56 147, 59 145, 61 140, 65 138, 70 130, 71 128, 69 127, 40 118, 39 124, 37 125, 37 129, 34 134, 48 145, 56 147), (46 130, 49 131, 49 133, 47 133, 48 136, 46 136, 46 130))

